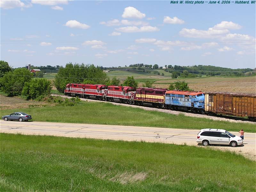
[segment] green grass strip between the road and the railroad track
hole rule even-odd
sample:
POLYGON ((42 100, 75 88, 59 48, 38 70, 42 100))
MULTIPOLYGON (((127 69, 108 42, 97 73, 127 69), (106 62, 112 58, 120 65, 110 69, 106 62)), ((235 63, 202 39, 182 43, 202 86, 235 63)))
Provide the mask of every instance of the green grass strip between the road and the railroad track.
POLYGON ((133 125, 198 130, 203 128, 217 128, 235 132, 240 131, 241 127, 243 127, 245 132, 256 132, 255 124, 250 123, 230 123, 184 115, 177 116, 100 102, 82 101, 77 106, 65 107, 6 109, 1 110, 0 115, 11 114, 13 111, 22 111, 30 114, 33 117, 33 121, 133 125))

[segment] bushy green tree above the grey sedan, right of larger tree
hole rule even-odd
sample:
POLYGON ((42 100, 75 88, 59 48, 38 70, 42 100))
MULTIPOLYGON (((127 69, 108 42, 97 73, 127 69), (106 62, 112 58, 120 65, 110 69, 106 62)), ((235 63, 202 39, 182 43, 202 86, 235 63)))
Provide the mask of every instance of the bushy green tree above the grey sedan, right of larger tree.
POLYGON ((26 82, 22 89, 21 95, 26 99, 43 98, 51 93, 51 82, 47 79, 32 79, 29 83, 26 82))

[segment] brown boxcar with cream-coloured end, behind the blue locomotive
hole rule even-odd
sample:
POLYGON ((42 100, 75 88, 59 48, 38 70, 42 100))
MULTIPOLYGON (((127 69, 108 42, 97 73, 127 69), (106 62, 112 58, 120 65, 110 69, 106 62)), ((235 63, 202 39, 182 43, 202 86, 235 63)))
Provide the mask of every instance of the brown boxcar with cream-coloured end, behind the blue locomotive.
POLYGON ((209 113, 248 117, 256 120, 256 94, 233 92, 205 93, 204 110, 209 113))

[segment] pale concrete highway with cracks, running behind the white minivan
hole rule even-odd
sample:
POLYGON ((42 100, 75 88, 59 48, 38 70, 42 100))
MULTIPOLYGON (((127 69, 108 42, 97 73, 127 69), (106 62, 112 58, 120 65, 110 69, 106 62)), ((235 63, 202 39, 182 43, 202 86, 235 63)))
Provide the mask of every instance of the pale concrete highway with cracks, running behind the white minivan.
MULTIPOLYGON (((71 124, 51 122, 15 122, 0 121, 0 132, 35 135, 53 135, 64 137, 81 137, 127 141, 148 141, 173 144, 195 145, 196 136, 200 130, 171 129, 158 127, 136 127, 123 125, 71 124)), ((238 135, 237 132, 231 132, 238 135)), ((250 159, 256 158, 256 133, 245 133, 244 145, 232 148, 230 146, 210 146, 221 150, 236 151, 250 159)))

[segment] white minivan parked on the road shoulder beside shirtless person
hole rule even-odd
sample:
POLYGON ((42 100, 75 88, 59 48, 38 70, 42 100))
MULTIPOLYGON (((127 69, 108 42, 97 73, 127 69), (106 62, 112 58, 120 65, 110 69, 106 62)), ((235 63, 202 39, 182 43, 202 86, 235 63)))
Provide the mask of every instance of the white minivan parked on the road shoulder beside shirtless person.
POLYGON ((243 144, 241 137, 233 135, 224 129, 201 129, 197 134, 196 142, 202 143, 204 146, 208 146, 209 144, 218 144, 236 147, 237 145, 243 144))

